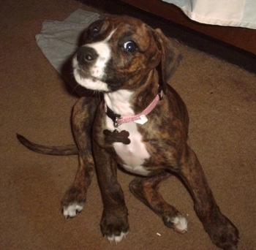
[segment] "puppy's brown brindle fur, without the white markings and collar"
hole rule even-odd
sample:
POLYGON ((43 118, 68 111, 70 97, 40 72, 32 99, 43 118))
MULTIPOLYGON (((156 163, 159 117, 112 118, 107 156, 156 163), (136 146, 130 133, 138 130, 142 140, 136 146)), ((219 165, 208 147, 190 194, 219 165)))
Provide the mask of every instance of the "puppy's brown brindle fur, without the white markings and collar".
MULTIPOLYGON (((112 90, 123 88, 135 91, 132 97, 135 113, 141 112, 151 102, 159 84, 165 91, 163 99, 147 115, 148 122, 138 125, 138 130, 143 135, 143 143, 151 156, 144 162, 143 167, 150 170, 151 175, 136 177, 130 183, 129 189, 135 197, 157 213, 167 227, 174 227, 170 218, 179 216, 180 213, 159 194, 159 185, 172 173, 176 173, 192 194, 197 216, 211 240, 222 249, 236 248, 238 230, 220 212, 197 156, 187 143, 187 108, 176 91, 166 84, 178 65, 180 56, 177 50, 161 31, 153 30, 135 18, 117 16, 107 18, 105 22, 98 22, 103 31, 96 40, 104 39, 113 29, 117 29, 116 37, 122 36, 125 24, 129 23, 127 32, 130 32, 131 37, 138 37, 139 28, 143 39, 138 37, 137 40, 141 42, 141 48, 146 48, 139 56, 129 60, 121 53, 115 54, 115 60, 111 59, 110 64, 113 70, 108 69, 105 80, 112 90)), ((87 30, 86 42, 94 39, 89 35, 91 27, 87 30)), ((112 143, 106 143, 103 134, 105 123, 102 122, 105 115, 104 103, 99 102, 98 98, 82 97, 78 100, 72 111, 72 129, 77 148, 70 145, 62 148, 44 148, 42 145, 30 143, 20 135, 18 139, 20 143, 39 153, 78 153, 78 172, 72 186, 64 195, 61 202, 63 207, 73 202, 85 202, 94 166, 97 168, 104 204, 101 230, 103 235, 110 236, 127 232, 129 224, 124 193, 116 178, 117 166, 123 162, 112 143)))

